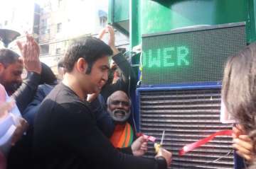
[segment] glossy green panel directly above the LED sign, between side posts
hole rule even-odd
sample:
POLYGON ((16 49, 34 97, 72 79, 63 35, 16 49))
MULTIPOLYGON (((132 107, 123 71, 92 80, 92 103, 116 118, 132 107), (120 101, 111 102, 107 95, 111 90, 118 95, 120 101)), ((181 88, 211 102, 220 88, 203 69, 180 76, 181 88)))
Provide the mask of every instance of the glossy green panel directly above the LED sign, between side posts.
POLYGON ((246 21, 247 2, 241 0, 141 0, 142 34, 193 25, 246 21))

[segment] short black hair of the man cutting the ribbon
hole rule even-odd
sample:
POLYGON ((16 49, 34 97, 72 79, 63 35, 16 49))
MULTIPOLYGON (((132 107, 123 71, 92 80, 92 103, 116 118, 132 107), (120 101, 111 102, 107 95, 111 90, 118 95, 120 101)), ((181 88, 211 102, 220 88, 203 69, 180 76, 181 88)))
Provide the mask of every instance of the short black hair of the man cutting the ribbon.
POLYGON ((85 37, 83 40, 78 40, 68 47, 64 57, 65 71, 72 71, 75 62, 82 57, 88 64, 86 74, 90 74, 92 65, 97 59, 110 56, 112 53, 110 46, 105 44, 102 40, 96 37, 85 37))

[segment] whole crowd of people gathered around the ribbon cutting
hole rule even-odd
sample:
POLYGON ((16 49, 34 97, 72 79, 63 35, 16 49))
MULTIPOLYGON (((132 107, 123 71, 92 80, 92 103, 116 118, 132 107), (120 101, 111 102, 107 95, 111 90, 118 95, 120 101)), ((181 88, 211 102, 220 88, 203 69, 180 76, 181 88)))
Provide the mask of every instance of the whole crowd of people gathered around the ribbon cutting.
MULTIPOLYGON (((153 159, 142 157, 148 140, 137 138, 130 120, 129 93, 136 76, 114 46, 111 26, 99 38, 85 37, 70 45, 58 63, 58 78, 40 62, 33 37, 26 38, 17 42, 21 56, 0 49, 0 120, 9 115, 15 119, 11 149, 0 149, 0 168, 162 169, 171 165, 171 152, 164 148, 153 159), (101 40, 106 33, 108 44, 101 40), (27 76, 22 79, 24 68, 27 76)), ((222 97, 238 122, 233 127, 233 147, 255 168, 255 44, 228 60, 222 97)))

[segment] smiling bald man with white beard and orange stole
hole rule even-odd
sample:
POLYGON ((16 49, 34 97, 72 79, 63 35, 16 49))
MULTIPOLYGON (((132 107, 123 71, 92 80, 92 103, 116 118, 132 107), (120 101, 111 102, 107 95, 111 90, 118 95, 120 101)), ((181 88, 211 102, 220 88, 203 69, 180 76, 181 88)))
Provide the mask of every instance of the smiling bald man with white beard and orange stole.
POLYGON ((114 133, 110 137, 114 147, 122 148, 132 144, 135 139, 131 124, 127 122, 130 112, 131 101, 123 91, 115 91, 107 98, 107 111, 114 120, 114 133))

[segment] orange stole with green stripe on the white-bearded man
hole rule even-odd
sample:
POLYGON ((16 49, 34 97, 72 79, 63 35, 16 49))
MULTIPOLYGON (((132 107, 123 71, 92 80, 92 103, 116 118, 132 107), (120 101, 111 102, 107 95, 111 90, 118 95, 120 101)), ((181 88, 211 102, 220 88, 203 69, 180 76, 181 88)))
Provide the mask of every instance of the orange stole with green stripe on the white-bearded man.
POLYGON ((127 122, 125 124, 117 124, 114 127, 114 133, 110 137, 110 142, 116 148, 127 147, 132 144, 134 132, 132 126, 127 122))

